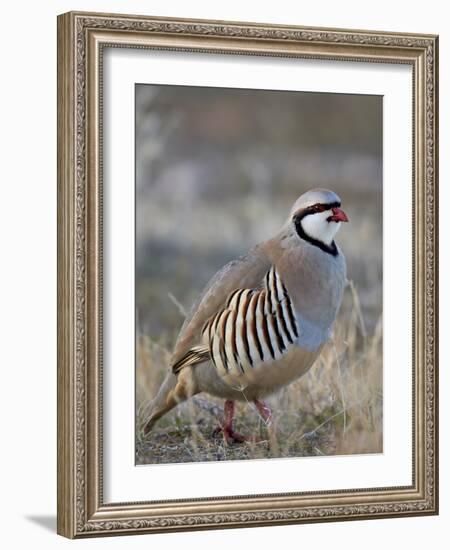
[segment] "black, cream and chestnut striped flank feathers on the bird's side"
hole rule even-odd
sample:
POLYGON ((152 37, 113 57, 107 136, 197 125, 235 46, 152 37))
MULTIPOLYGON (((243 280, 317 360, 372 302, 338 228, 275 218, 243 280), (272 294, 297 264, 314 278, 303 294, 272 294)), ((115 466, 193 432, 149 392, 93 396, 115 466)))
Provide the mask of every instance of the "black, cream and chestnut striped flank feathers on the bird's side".
POLYGON ((205 321, 201 345, 190 348, 173 365, 174 372, 211 359, 219 376, 236 385, 293 348, 298 327, 286 287, 274 266, 262 279, 257 287, 228 295, 226 304, 205 321))

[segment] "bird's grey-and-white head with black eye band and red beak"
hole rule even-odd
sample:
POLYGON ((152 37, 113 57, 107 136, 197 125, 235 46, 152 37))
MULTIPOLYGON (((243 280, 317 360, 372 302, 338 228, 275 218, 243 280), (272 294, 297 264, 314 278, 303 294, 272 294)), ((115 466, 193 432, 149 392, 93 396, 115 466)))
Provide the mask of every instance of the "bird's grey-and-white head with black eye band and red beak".
POLYGON ((289 218, 301 239, 333 255, 337 254, 334 238, 342 222, 348 222, 348 217, 341 210, 341 199, 328 189, 312 189, 301 195, 289 218))

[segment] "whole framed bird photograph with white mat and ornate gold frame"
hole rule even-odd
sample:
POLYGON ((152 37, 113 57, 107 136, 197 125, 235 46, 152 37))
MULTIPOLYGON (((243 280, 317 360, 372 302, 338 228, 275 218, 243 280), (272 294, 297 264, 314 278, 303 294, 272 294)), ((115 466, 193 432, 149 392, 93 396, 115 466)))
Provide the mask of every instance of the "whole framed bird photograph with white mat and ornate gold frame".
POLYGON ((58 17, 58 532, 436 514, 438 38, 58 17))

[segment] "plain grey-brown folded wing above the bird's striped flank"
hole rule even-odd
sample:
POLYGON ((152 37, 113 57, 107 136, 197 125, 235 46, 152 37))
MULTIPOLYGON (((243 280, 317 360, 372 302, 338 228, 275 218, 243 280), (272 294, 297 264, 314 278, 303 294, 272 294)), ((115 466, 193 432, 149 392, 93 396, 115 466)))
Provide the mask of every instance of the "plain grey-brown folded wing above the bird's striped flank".
POLYGON ((256 247, 246 256, 233 260, 220 269, 206 285, 186 317, 175 344, 171 365, 179 363, 192 348, 201 344, 203 326, 225 307, 232 292, 239 288, 258 287, 269 268, 270 261, 262 247, 256 247))

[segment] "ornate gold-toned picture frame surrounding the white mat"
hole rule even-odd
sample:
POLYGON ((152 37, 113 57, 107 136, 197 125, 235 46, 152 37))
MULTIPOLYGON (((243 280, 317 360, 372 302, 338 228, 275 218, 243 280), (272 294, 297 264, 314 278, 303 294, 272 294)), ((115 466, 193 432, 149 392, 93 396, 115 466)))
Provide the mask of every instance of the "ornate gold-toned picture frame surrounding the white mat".
MULTIPOLYGON (((94 13, 58 17, 58 533, 67 537, 436 514, 438 38, 94 13), (104 504, 102 49, 133 47, 413 67, 413 484, 104 504)), ((151 497, 151 495, 149 495, 151 497)))

